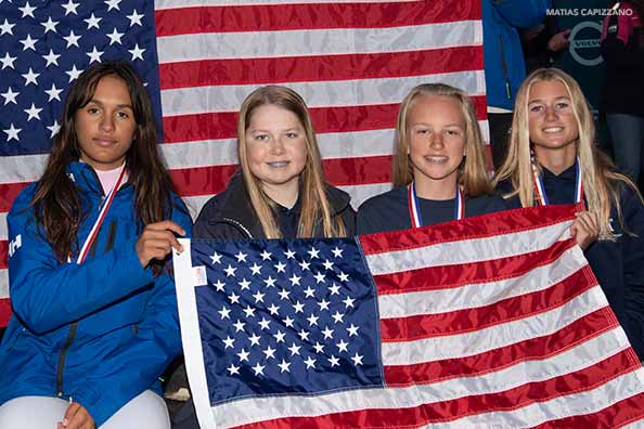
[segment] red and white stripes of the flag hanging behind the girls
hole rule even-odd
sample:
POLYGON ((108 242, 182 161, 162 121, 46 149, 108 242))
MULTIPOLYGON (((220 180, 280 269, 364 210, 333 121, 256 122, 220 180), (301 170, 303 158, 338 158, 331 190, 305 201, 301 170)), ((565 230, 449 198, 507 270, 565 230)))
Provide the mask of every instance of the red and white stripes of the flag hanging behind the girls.
MULTIPOLYGON (((398 104, 414 86, 463 88, 488 134, 478 0, 156 0, 155 8, 162 152, 193 214, 235 171, 236 112, 258 86, 304 96, 327 179, 355 207, 390 188, 398 104)), ((0 159, 0 326, 10 314, 4 218, 44 161, 0 159)))

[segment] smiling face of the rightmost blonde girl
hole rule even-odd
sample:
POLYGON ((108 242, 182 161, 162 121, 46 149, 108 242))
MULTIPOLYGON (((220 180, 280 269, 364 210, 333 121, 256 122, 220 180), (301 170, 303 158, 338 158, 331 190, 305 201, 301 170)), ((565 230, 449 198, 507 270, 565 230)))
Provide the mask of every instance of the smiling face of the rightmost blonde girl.
POLYGON ((564 83, 541 80, 528 95, 528 128, 537 156, 575 158, 579 125, 564 83))

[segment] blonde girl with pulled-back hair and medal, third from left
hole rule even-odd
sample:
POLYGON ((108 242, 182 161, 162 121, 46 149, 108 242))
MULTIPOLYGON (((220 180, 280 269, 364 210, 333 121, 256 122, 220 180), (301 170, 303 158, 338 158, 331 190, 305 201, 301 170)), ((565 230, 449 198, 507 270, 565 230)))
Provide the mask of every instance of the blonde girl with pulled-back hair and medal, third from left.
POLYGON ((414 88, 398 113, 394 190, 358 210, 358 233, 432 225, 503 210, 491 196, 474 107, 460 89, 414 88))

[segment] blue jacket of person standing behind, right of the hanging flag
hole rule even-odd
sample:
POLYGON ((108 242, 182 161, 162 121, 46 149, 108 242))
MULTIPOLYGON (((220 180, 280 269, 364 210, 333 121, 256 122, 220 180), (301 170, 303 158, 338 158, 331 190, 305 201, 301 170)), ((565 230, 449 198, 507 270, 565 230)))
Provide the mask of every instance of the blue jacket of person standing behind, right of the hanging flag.
POLYGON ((551 6, 551 0, 482 0, 488 106, 514 109, 516 91, 526 78, 517 28, 541 24, 551 6))

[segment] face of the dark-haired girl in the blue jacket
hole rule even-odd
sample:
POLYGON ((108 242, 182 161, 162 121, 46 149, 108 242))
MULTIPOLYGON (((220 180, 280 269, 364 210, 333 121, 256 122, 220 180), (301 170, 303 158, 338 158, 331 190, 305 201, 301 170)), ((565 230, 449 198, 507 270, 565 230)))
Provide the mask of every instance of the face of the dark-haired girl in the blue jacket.
POLYGON ((132 145, 136 129, 126 83, 115 76, 101 78, 89 103, 76 110, 80 160, 95 170, 120 167, 132 145))

